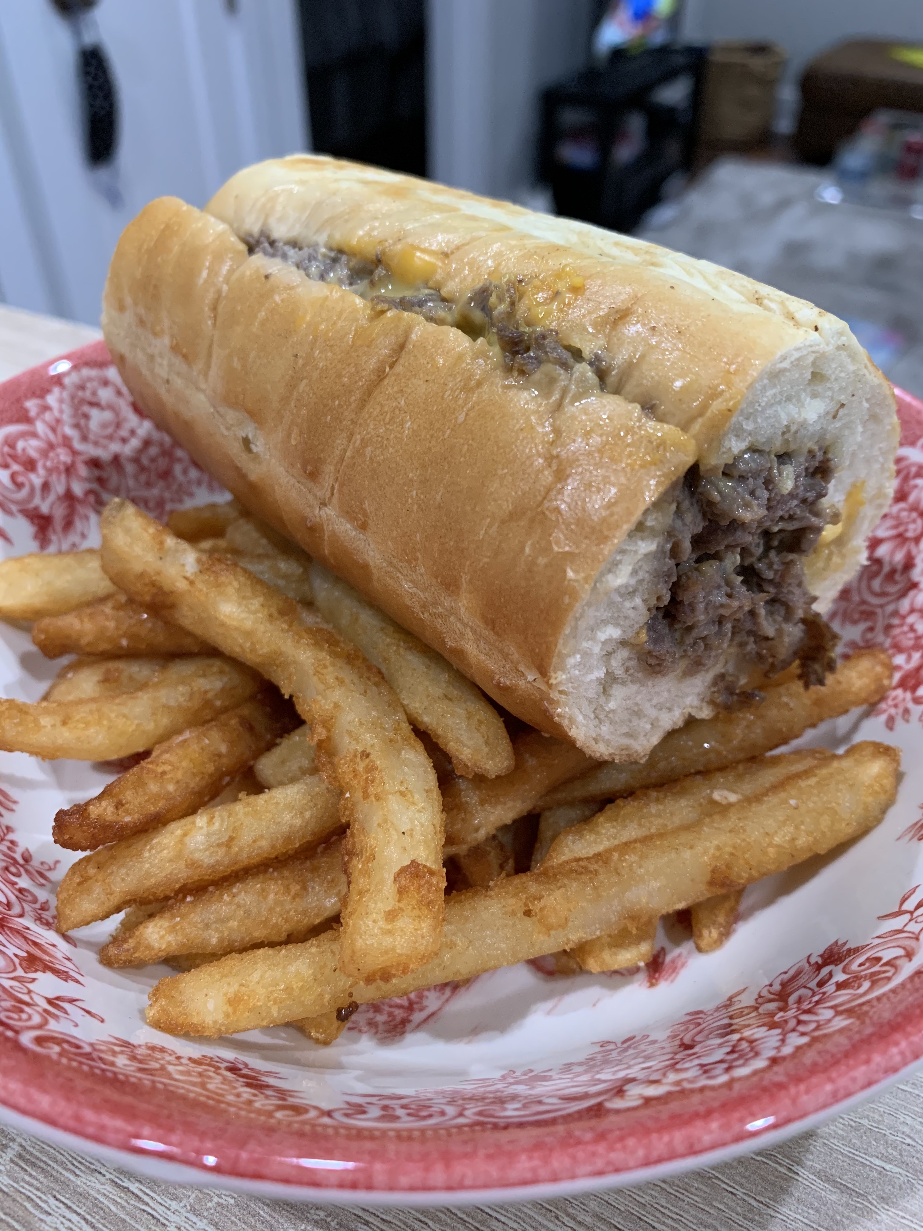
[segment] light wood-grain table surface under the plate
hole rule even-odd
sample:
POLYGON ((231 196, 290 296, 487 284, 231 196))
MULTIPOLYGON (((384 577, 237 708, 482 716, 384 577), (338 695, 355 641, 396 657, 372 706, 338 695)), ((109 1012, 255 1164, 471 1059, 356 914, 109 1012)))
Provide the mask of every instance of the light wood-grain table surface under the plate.
MULTIPOLYGON (((0 379, 98 337, 0 305, 0 379)), ((0 1129, 1 1231, 923 1231, 923 1073, 747 1158, 582 1198, 443 1210, 185 1188, 0 1129)))

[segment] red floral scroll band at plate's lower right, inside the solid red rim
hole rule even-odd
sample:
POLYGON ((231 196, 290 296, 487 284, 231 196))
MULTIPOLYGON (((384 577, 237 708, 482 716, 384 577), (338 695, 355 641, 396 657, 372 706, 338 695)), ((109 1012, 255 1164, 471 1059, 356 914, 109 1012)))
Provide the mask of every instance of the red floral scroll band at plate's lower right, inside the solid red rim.
POLYGON ((506 1072, 406 1096, 366 1094, 329 1113, 343 1123, 389 1126, 534 1124, 592 1108, 637 1107, 681 1089, 745 1077, 789 1056, 816 1035, 850 1024, 849 1011, 879 995, 916 958, 923 934, 923 897, 896 911, 897 928, 868 944, 834 940, 762 987, 746 988, 708 1009, 685 1013, 663 1038, 637 1035, 597 1043, 588 1056, 556 1069, 506 1072))

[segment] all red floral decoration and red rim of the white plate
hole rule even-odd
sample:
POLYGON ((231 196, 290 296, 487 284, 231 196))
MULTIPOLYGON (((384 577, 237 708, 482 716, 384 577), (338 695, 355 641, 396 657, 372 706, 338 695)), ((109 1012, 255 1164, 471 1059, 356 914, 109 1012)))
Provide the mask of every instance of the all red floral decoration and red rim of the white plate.
MULTIPOLYGON (((37 369, 4 393, 0 511, 27 521, 43 548, 81 545, 111 495, 162 516, 206 487, 130 405, 101 345, 75 352, 64 373, 37 369)), ((903 423, 896 503, 836 604, 852 644, 896 652, 896 689, 882 705, 891 728, 923 704, 923 406, 905 400, 903 423)), ((0 812, 12 808, 0 795, 0 812)), ((903 836, 919 838, 916 830, 903 836)), ((881 916, 896 926, 869 942, 836 940, 754 993, 740 988, 661 1032, 598 1041, 554 1067, 352 1092, 321 1107, 292 1077, 226 1048, 92 1038, 101 1016, 60 992, 84 976, 52 931, 53 872, 0 822, 0 1098, 86 1140, 226 1174, 369 1193, 599 1177, 746 1140, 923 1056, 914 888, 881 916), (773 1114, 747 1123, 754 1107, 773 1114)), ((679 950, 657 958, 642 976, 651 985, 688 960, 679 950)), ((447 985, 363 1007, 351 1029, 394 1041, 432 1024, 463 991, 447 985)))

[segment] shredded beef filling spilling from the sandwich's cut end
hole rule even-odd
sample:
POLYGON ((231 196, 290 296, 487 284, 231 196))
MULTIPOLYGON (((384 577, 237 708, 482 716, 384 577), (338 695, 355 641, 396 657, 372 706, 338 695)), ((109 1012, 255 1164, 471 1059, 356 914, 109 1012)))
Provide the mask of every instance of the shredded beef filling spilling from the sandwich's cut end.
POLYGON ((645 630, 652 671, 681 659, 705 667, 733 646, 767 675, 797 659, 806 686, 823 682, 837 638, 811 611, 804 559, 829 521, 832 476, 832 460, 813 451, 751 449, 716 476, 692 467, 671 526, 669 597, 645 630))

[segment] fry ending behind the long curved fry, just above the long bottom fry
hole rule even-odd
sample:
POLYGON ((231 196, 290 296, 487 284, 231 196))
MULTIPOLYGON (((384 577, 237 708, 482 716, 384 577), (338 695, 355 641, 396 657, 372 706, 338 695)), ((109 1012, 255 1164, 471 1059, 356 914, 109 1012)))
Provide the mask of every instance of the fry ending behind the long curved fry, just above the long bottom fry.
POLYGON ((100 950, 100 961, 138 966, 300 939, 340 913, 345 894, 336 838, 320 851, 289 856, 166 902, 158 913, 113 936, 100 950))

